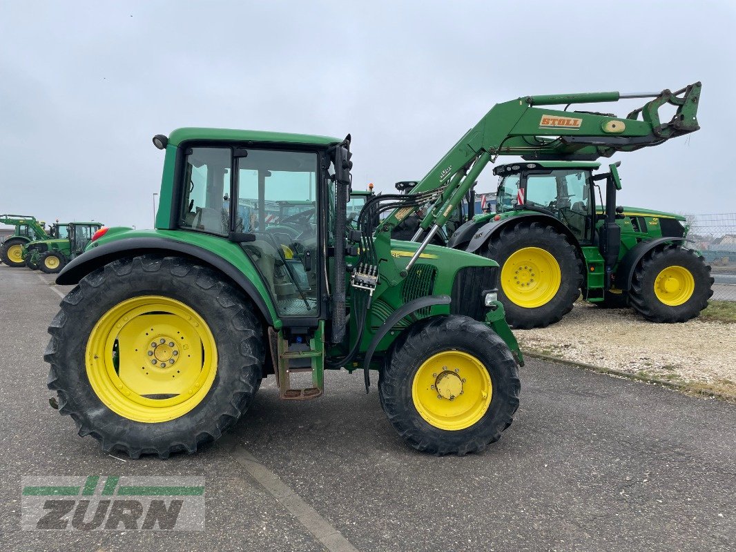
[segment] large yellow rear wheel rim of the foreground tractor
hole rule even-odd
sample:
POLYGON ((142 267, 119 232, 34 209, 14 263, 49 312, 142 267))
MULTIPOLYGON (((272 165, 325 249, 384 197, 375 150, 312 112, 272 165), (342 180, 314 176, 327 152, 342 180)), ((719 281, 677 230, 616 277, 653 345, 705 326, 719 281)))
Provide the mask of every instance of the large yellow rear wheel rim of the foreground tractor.
POLYGON ((208 394, 217 347, 194 309, 149 295, 102 315, 90 333, 85 364, 92 389, 107 408, 136 422, 166 422, 208 394))

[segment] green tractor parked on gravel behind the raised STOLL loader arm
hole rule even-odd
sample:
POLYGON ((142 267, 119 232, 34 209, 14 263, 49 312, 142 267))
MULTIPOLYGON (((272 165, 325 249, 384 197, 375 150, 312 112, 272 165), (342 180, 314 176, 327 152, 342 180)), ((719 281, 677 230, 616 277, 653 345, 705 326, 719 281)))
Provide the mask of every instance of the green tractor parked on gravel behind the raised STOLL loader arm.
POLYGON ((593 305, 631 306, 651 322, 685 322, 707 307, 710 266, 687 247, 684 216, 617 206, 618 163, 594 174, 599 167, 496 166, 496 212, 475 216, 448 241, 498 261, 499 298, 515 328, 558 322, 581 290, 593 305), (605 205, 595 205, 600 180, 607 182, 605 205))

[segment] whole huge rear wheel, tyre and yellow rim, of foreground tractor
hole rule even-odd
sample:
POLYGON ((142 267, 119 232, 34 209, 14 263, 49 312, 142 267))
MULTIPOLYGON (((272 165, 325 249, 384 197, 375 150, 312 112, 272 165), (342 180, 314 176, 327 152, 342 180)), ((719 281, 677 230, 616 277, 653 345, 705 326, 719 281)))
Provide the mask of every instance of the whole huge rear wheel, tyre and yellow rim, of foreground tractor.
POLYGON ((263 369, 255 307, 219 272, 144 255, 82 278, 44 359, 59 411, 102 450, 194 453, 250 406, 263 369))

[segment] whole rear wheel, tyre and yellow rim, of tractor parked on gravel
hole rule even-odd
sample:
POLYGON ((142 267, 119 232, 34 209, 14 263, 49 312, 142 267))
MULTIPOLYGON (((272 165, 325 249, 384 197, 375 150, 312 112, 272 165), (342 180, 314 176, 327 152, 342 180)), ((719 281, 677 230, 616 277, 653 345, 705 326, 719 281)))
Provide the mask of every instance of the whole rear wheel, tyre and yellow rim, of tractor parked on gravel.
POLYGON ((583 282, 575 247, 539 222, 506 226, 482 251, 500 266, 498 299, 514 328, 545 328, 573 310, 583 282))

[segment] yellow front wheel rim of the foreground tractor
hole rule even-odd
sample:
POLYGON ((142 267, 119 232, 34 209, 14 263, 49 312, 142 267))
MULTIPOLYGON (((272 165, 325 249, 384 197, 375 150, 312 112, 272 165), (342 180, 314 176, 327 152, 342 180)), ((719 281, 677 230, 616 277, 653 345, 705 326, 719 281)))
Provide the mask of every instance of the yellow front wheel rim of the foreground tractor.
POLYGON ((461 351, 432 355, 414 374, 411 397, 426 422, 439 429, 469 428, 491 404, 493 386, 478 358, 461 351))

